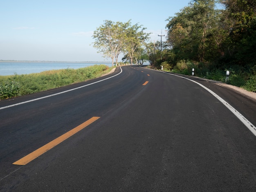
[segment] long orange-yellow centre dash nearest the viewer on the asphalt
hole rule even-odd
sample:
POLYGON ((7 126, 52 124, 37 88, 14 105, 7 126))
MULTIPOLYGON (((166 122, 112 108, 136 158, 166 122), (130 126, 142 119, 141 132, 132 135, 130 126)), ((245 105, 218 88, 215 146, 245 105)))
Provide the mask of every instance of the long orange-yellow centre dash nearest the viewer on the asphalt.
POLYGON ((69 132, 59 136, 58 138, 56 138, 53 141, 47 143, 43 147, 40 147, 39 149, 35 150, 34 152, 31 152, 27 156, 25 156, 25 157, 21 158, 20 160, 14 162, 13 165, 26 165, 30 161, 36 159, 41 154, 49 151, 50 149, 52 149, 56 145, 60 144, 61 142, 65 141, 67 138, 69 138, 72 135, 76 134, 77 132, 81 131, 82 129, 84 129, 85 127, 87 127, 88 125, 90 125, 91 123, 93 123, 94 121, 96 121, 99 118, 100 117, 92 117, 92 118, 90 118, 89 120, 85 121, 81 125, 78 125, 74 129, 70 130, 69 132))

